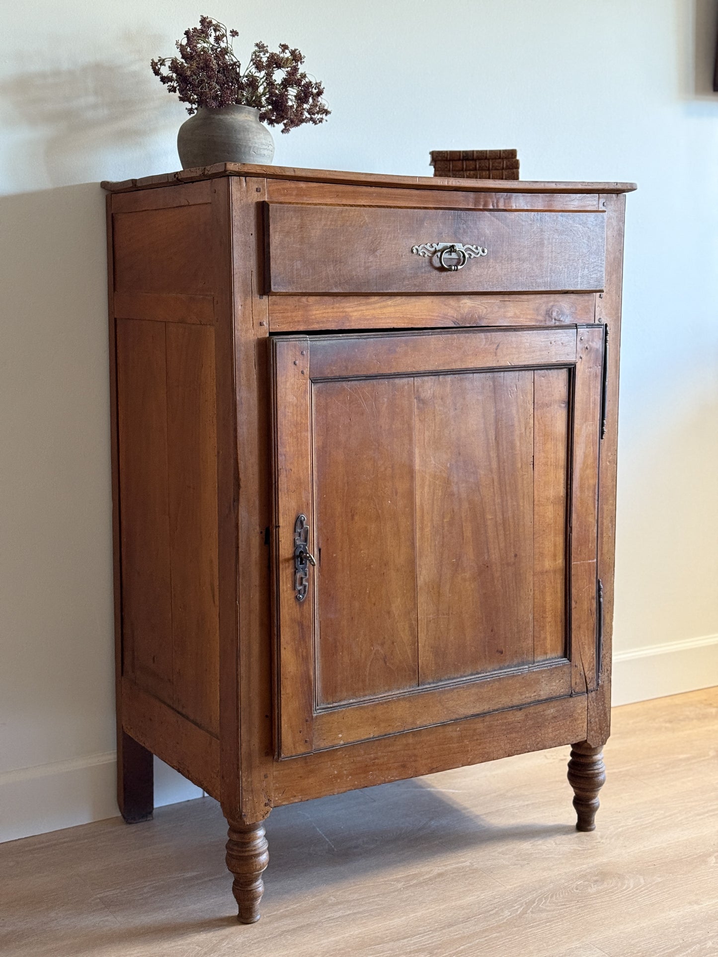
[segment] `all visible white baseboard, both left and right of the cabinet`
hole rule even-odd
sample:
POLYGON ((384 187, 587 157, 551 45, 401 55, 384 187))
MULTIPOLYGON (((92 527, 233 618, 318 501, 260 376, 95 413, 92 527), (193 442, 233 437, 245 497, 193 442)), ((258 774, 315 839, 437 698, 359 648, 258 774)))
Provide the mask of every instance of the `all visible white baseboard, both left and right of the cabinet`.
MULTIPOLYGON (((635 648, 614 657, 614 705, 712 685, 718 685, 718 634, 635 648)), ((115 817, 115 781, 114 751, 0 773, 0 842, 115 817)), ((201 795, 155 758, 155 807, 201 795)))

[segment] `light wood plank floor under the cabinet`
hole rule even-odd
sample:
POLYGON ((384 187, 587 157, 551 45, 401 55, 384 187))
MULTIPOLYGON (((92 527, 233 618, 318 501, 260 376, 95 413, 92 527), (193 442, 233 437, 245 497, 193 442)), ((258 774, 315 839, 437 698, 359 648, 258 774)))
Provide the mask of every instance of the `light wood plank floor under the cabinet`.
POLYGON ((209 798, 0 846, 7 957, 694 957, 718 952, 718 688, 614 711, 598 829, 567 748, 267 822, 262 919, 234 919, 209 798))

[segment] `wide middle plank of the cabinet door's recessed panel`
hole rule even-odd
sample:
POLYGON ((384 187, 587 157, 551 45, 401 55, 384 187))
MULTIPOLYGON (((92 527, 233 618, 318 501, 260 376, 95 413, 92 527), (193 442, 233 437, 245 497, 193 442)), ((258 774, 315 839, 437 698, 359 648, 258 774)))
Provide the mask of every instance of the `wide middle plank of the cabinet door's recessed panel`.
POLYGON ((533 658, 533 373, 421 376, 419 680, 533 658))

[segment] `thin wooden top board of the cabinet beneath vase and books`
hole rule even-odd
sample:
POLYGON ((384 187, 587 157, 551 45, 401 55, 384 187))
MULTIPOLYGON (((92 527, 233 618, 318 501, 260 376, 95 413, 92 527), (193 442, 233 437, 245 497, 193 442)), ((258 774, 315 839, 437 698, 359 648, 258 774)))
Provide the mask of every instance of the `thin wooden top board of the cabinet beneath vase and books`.
POLYGON ((463 192, 631 192, 635 183, 549 183, 529 180, 449 179, 441 176, 390 176, 384 173, 344 172, 336 169, 299 169, 297 167, 255 166, 248 163, 217 163, 212 167, 181 169, 158 176, 143 176, 119 183, 104 180, 102 189, 127 192, 131 189, 152 189, 173 183, 191 183, 218 176, 257 176, 262 179, 306 180, 318 183, 353 186, 403 187, 406 189, 450 189, 463 192))

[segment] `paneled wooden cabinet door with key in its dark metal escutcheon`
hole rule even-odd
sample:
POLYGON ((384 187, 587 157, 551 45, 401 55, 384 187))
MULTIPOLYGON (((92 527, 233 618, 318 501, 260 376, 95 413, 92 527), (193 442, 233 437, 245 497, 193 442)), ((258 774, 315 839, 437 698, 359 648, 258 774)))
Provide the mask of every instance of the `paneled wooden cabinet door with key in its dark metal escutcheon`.
POLYGON ((603 327, 272 360, 280 756, 595 688, 603 327))

